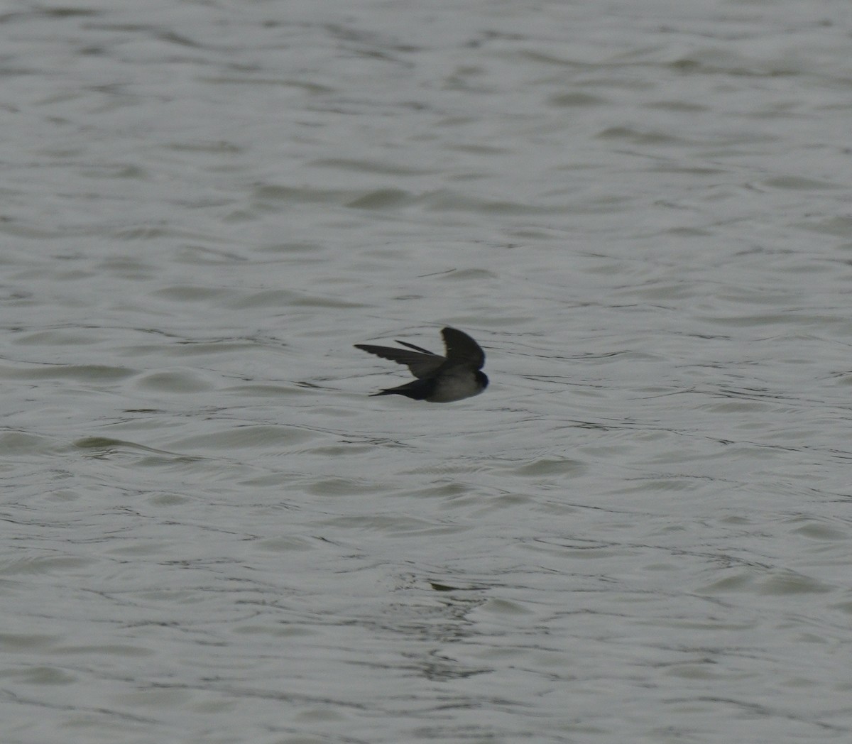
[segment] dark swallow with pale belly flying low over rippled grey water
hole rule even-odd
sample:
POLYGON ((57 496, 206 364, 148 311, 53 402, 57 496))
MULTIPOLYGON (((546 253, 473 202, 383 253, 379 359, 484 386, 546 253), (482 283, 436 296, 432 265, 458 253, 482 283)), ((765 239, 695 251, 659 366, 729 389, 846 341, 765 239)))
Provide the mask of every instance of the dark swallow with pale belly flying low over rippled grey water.
POLYGON ((449 403, 479 395, 486 389, 488 378, 481 371, 485 364, 485 352, 480 349, 480 345, 467 333, 455 328, 443 328, 440 335, 444 337, 446 356, 405 341, 396 343, 407 349, 356 343, 355 349, 406 365, 417 378, 398 388, 380 390, 371 395, 405 395, 415 401, 449 403))

